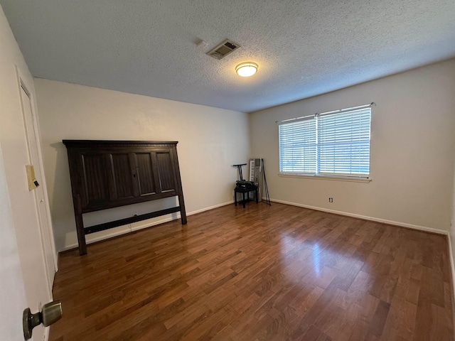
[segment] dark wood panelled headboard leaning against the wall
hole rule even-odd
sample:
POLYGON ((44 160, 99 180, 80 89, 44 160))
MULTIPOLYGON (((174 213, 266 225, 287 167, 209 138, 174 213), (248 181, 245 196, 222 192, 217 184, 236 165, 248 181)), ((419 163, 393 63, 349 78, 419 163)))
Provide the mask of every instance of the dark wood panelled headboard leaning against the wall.
POLYGON ((176 141, 63 140, 68 149, 79 253, 87 253, 85 234, 181 212, 185 203, 176 141), (84 227, 87 212, 178 196, 178 206, 84 227))

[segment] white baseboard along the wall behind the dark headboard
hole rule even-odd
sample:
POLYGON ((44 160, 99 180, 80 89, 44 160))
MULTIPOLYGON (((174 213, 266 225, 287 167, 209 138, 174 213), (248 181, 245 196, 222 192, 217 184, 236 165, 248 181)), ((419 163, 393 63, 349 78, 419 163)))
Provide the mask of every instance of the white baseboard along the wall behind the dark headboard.
MULTIPOLYGON (((200 210, 188 212, 186 214, 186 216, 188 217, 190 215, 196 215, 197 213, 200 213, 200 212, 213 210, 214 208, 222 207, 222 206, 225 206, 225 205, 230 205, 233 202, 234 202, 234 200, 231 200, 231 201, 228 201, 228 202, 223 202, 223 203, 218 204, 218 205, 213 205, 213 206, 210 206, 210 207, 202 208, 200 210)), ((180 219, 180 217, 181 217, 180 213, 178 213, 178 214, 171 213, 170 215, 171 215, 171 217, 168 216, 168 217, 165 217, 165 218, 163 218, 161 220, 155 220, 154 222, 145 222, 144 224, 141 224, 139 226, 132 227, 132 224, 119 226, 119 227, 117 227, 117 229, 122 228, 122 227, 123 227, 123 229, 117 230, 115 232, 107 232, 106 234, 103 234, 100 237, 87 239, 87 245, 95 243, 95 242, 100 242, 100 241, 105 240, 105 239, 118 237, 118 236, 121 236, 122 234, 127 234, 127 233, 130 233, 130 232, 139 231, 140 229, 146 229, 147 227, 152 227, 152 226, 155 226, 155 225, 163 224, 164 222, 171 222, 171 220, 177 220, 177 219, 180 219)), ((153 218, 151 218, 151 219, 153 219, 153 218)), ((65 245, 65 247, 63 247, 63 249, 61 249, 60 252, 68 251, 70 249, 75 249, 77 247, 78 247, 77 243, 70 244, 70 245, 65 245)))

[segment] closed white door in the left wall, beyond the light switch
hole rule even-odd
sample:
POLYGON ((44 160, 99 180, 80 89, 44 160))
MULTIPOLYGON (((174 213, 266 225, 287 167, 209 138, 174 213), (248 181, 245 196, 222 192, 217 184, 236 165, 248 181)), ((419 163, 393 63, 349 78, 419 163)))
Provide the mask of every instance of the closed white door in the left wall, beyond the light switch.
POLYGON ((26 85, 19 78, 21 90, 21 104, 23 113, 24 130, 27 137, 28 159, 33 165, 36 180, 40 184, 38 188, 33 190, 36 202, 36 210, 38 212, 38 222, 40 224, 41 244, 43 244, 43 252, 46 263, 46 276, 48 278, 49 290, 52 291, 57 262, 55 257, 55 244, 53 240, 53 232, 50 224, 50 212, 48 208, 47 193, 44 189, 44 174, 41 165, 41 155, 39 153, 39 140, 37 137, 38 129, 36 129, 36 117, 33 115, 33 102, 30 92, 26 85))

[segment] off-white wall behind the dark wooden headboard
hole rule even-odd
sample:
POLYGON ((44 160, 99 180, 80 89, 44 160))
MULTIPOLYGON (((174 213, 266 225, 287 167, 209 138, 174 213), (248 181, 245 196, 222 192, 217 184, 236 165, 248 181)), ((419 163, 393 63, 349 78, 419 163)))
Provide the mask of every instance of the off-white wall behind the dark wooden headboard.
MULTIPOLYGON (((178 141, 187 213, 232 202, 237 175, 232 164, 245 163, 248 156, 247 114, 50 80, 36 79, 35 87, 58 251, 77 245, 68 156, 62 139, 178 141)), ((131 217, 151 207, 170 207, 173 202, 176 200, 171 198, 90 213, 85 215, 85 224, 131 217)), ((166 218, 170 216, 89 234, 87 241, 166 218)))

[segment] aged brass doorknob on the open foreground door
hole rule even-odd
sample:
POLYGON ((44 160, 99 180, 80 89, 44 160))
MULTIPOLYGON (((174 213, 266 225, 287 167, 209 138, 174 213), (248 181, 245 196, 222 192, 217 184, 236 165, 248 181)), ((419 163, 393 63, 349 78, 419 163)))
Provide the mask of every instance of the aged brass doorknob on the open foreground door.
POLYGON ((43 323, 45 327, 52 325, 62 318, 62 303, 53 301, 43 305, 40 312, 32 314, 30 308, 23 310, 23 337, 25 340, 31 338, 31 331, 37 325, 43 323))

